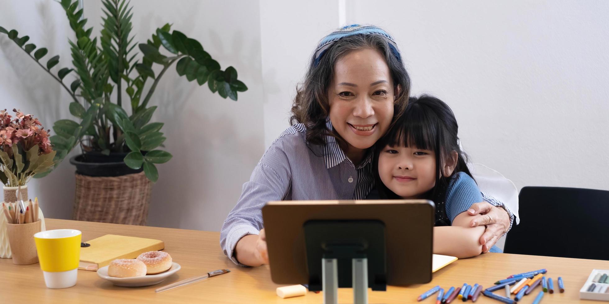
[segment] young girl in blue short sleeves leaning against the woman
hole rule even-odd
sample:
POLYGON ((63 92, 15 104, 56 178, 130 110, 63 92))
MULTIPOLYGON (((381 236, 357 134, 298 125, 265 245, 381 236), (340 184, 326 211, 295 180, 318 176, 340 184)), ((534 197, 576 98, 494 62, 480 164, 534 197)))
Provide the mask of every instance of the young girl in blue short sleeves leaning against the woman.
MULTIPOLYGON (((382 199, 435 203, 434 254, 481 254, 484 226, 471 227, 471 204, 482 200, 459 148, 457 120, 442 100, 410 97, 404 114, 376 143, 376 185, 382 199)), ((498 250, 493 247, 494 250, 498 250)))

